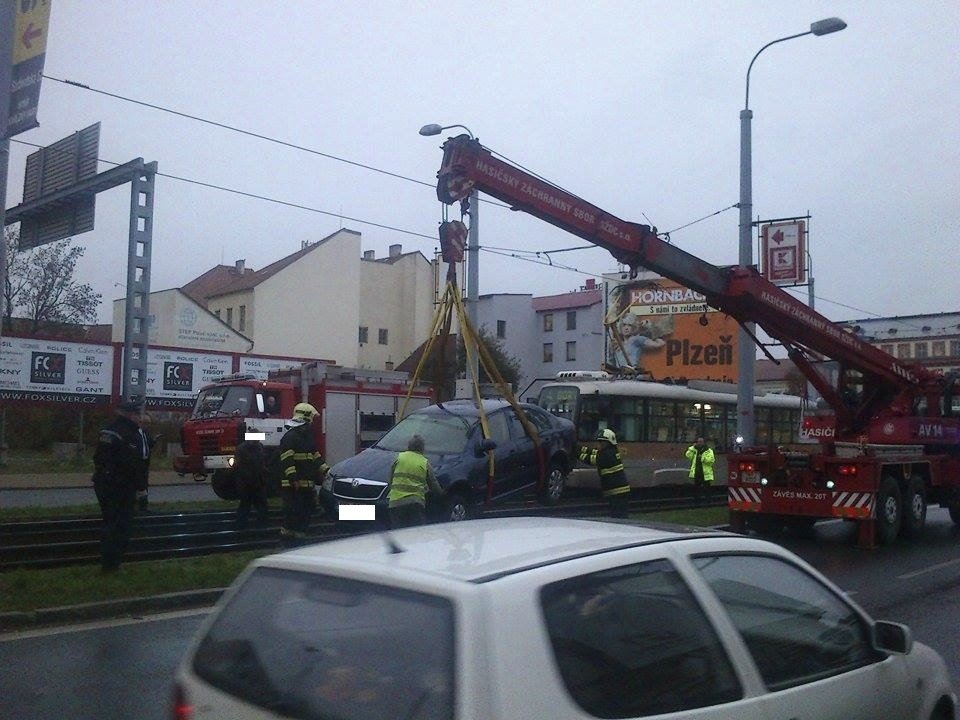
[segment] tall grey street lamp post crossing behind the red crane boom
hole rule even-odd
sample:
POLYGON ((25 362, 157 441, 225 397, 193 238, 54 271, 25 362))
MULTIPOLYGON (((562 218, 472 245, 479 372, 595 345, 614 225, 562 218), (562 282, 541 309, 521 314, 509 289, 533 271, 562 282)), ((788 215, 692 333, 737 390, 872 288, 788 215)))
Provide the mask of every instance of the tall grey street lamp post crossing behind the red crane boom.
MULTIPOLYGON (((747 67, 746 99, 740 111, 740 253, 739 263, 744 268, 753 265, 753 175, 751 167, 750 121, 753 111, 750 109, 750 71, 764 50, 771 45, 804 35, 829 35, 843 30, 847 24, 840 18, 826 18, 810 24, 806 32, 788 35, 772 40, 757 51, 747 67)), ((753 385, 756 365, 756 350, 753 344, 755 323, 746 323, 740 329, 739 365, 737 381, 737 435, 738 444, 752 445, 754 440, 753 385)))

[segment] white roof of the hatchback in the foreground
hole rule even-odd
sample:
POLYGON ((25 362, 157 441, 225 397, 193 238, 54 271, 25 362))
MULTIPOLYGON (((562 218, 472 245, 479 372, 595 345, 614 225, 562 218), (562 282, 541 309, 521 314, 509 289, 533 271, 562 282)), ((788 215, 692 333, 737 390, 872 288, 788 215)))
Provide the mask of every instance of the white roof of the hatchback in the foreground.
POLYGON ((480 583, 585 555, 720 531, 629 522, 515 517, 467 520, 317 543, 256 561, 306 571, 440 576, 480 583), (398 552, 391 550, 393 543, 398 552))

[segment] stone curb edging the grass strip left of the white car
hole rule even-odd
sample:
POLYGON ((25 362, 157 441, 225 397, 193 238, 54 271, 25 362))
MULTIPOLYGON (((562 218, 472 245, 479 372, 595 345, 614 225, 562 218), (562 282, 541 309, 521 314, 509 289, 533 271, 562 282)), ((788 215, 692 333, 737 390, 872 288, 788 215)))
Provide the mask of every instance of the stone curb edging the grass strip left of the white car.
POLYGON ((65 605, 20 612, 0 613, 0 633, 16 630, 37 629, 55 625, 113 620, 123 617, 138 617, 172 610, 212 607, 226 588, 187 590, 184 592, 134 597, 121 600, 65 605))

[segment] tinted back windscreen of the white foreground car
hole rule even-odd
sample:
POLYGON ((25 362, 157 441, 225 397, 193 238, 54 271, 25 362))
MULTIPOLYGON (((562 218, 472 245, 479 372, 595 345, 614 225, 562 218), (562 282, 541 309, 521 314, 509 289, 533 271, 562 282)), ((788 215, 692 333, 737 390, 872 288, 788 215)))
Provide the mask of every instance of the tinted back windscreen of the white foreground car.
POLYGON ((453 718, 454 610, 433 595, 256 569, 200 642, 193 671, 304 720, 453 718))

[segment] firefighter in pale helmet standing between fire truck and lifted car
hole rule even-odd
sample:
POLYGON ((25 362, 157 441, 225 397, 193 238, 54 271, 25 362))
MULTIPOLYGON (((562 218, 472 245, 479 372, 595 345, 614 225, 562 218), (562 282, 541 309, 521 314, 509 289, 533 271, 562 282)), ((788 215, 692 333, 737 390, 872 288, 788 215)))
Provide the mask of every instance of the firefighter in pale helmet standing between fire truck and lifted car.
POLYGON ((309 540, 310 518, 316 508, 315 485, 323 481, 329 469, 317 452, 312 423, 317 409, 310 403, 299 403, 288 420, 288 430, 280 438, 280 494, 283 497, 283 521, 280 540, 286 545, 299 545, 309 540))

